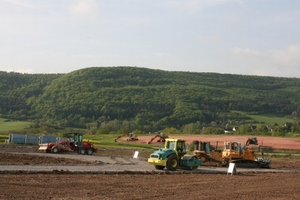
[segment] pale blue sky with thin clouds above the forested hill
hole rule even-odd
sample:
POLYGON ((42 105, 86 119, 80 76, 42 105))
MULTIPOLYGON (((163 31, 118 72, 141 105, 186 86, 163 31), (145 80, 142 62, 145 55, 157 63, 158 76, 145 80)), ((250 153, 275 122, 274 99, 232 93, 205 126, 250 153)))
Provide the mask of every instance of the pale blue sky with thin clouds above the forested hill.
POLYGON ((0 71, 300 78, 299 0, 0 0, 0 71))

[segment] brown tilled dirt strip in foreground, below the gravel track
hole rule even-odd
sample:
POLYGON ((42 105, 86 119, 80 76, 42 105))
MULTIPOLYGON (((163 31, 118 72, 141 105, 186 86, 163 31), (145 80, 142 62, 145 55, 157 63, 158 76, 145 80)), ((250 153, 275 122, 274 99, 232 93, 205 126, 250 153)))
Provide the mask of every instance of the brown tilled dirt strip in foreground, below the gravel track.
POLYGON ((1 174, 0 199, 299 199, 300 174, 1 174))

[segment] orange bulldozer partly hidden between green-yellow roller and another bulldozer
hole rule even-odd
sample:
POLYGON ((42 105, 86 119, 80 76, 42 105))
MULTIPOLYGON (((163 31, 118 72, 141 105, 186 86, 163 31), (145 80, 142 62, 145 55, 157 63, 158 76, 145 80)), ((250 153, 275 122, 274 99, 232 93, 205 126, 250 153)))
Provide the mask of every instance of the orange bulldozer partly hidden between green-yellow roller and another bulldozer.
POLYGON ((211 148, 210 142, 193 141, 194 144, 194 156, 201 159, 203 165, 216 165, 222 166, 223 158, 222 151, 217 150, 218 145, 215 149, 211 148))

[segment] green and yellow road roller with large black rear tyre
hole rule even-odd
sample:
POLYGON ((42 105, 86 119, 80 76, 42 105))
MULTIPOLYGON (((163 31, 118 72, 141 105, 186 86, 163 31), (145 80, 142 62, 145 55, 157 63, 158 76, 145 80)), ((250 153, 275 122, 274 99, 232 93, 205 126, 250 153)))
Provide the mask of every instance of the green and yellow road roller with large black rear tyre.
POLYGON ((176 171, 177 168, 192 170, 202 165, 202 160, 196 156, 185 154, 185 140, 166 139, 165 148, 154 151, 148 158, 148 163, 156 169, 163 170, 166 167, 169 171, 176 171))

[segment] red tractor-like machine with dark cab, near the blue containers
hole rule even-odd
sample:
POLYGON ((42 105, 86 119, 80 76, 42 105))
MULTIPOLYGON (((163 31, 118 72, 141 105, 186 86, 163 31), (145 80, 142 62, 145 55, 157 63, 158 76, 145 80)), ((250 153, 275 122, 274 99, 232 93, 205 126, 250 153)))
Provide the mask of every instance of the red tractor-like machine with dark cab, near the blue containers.
POLYGON ((81 133, 69 133, 67 140, 62 142, 40 144, 39 150, 47 153, 75 151, 82 155, 92 155, 94 152, 98 152, 98 149, 93 144, 83 142, 83 135, 81 133))

